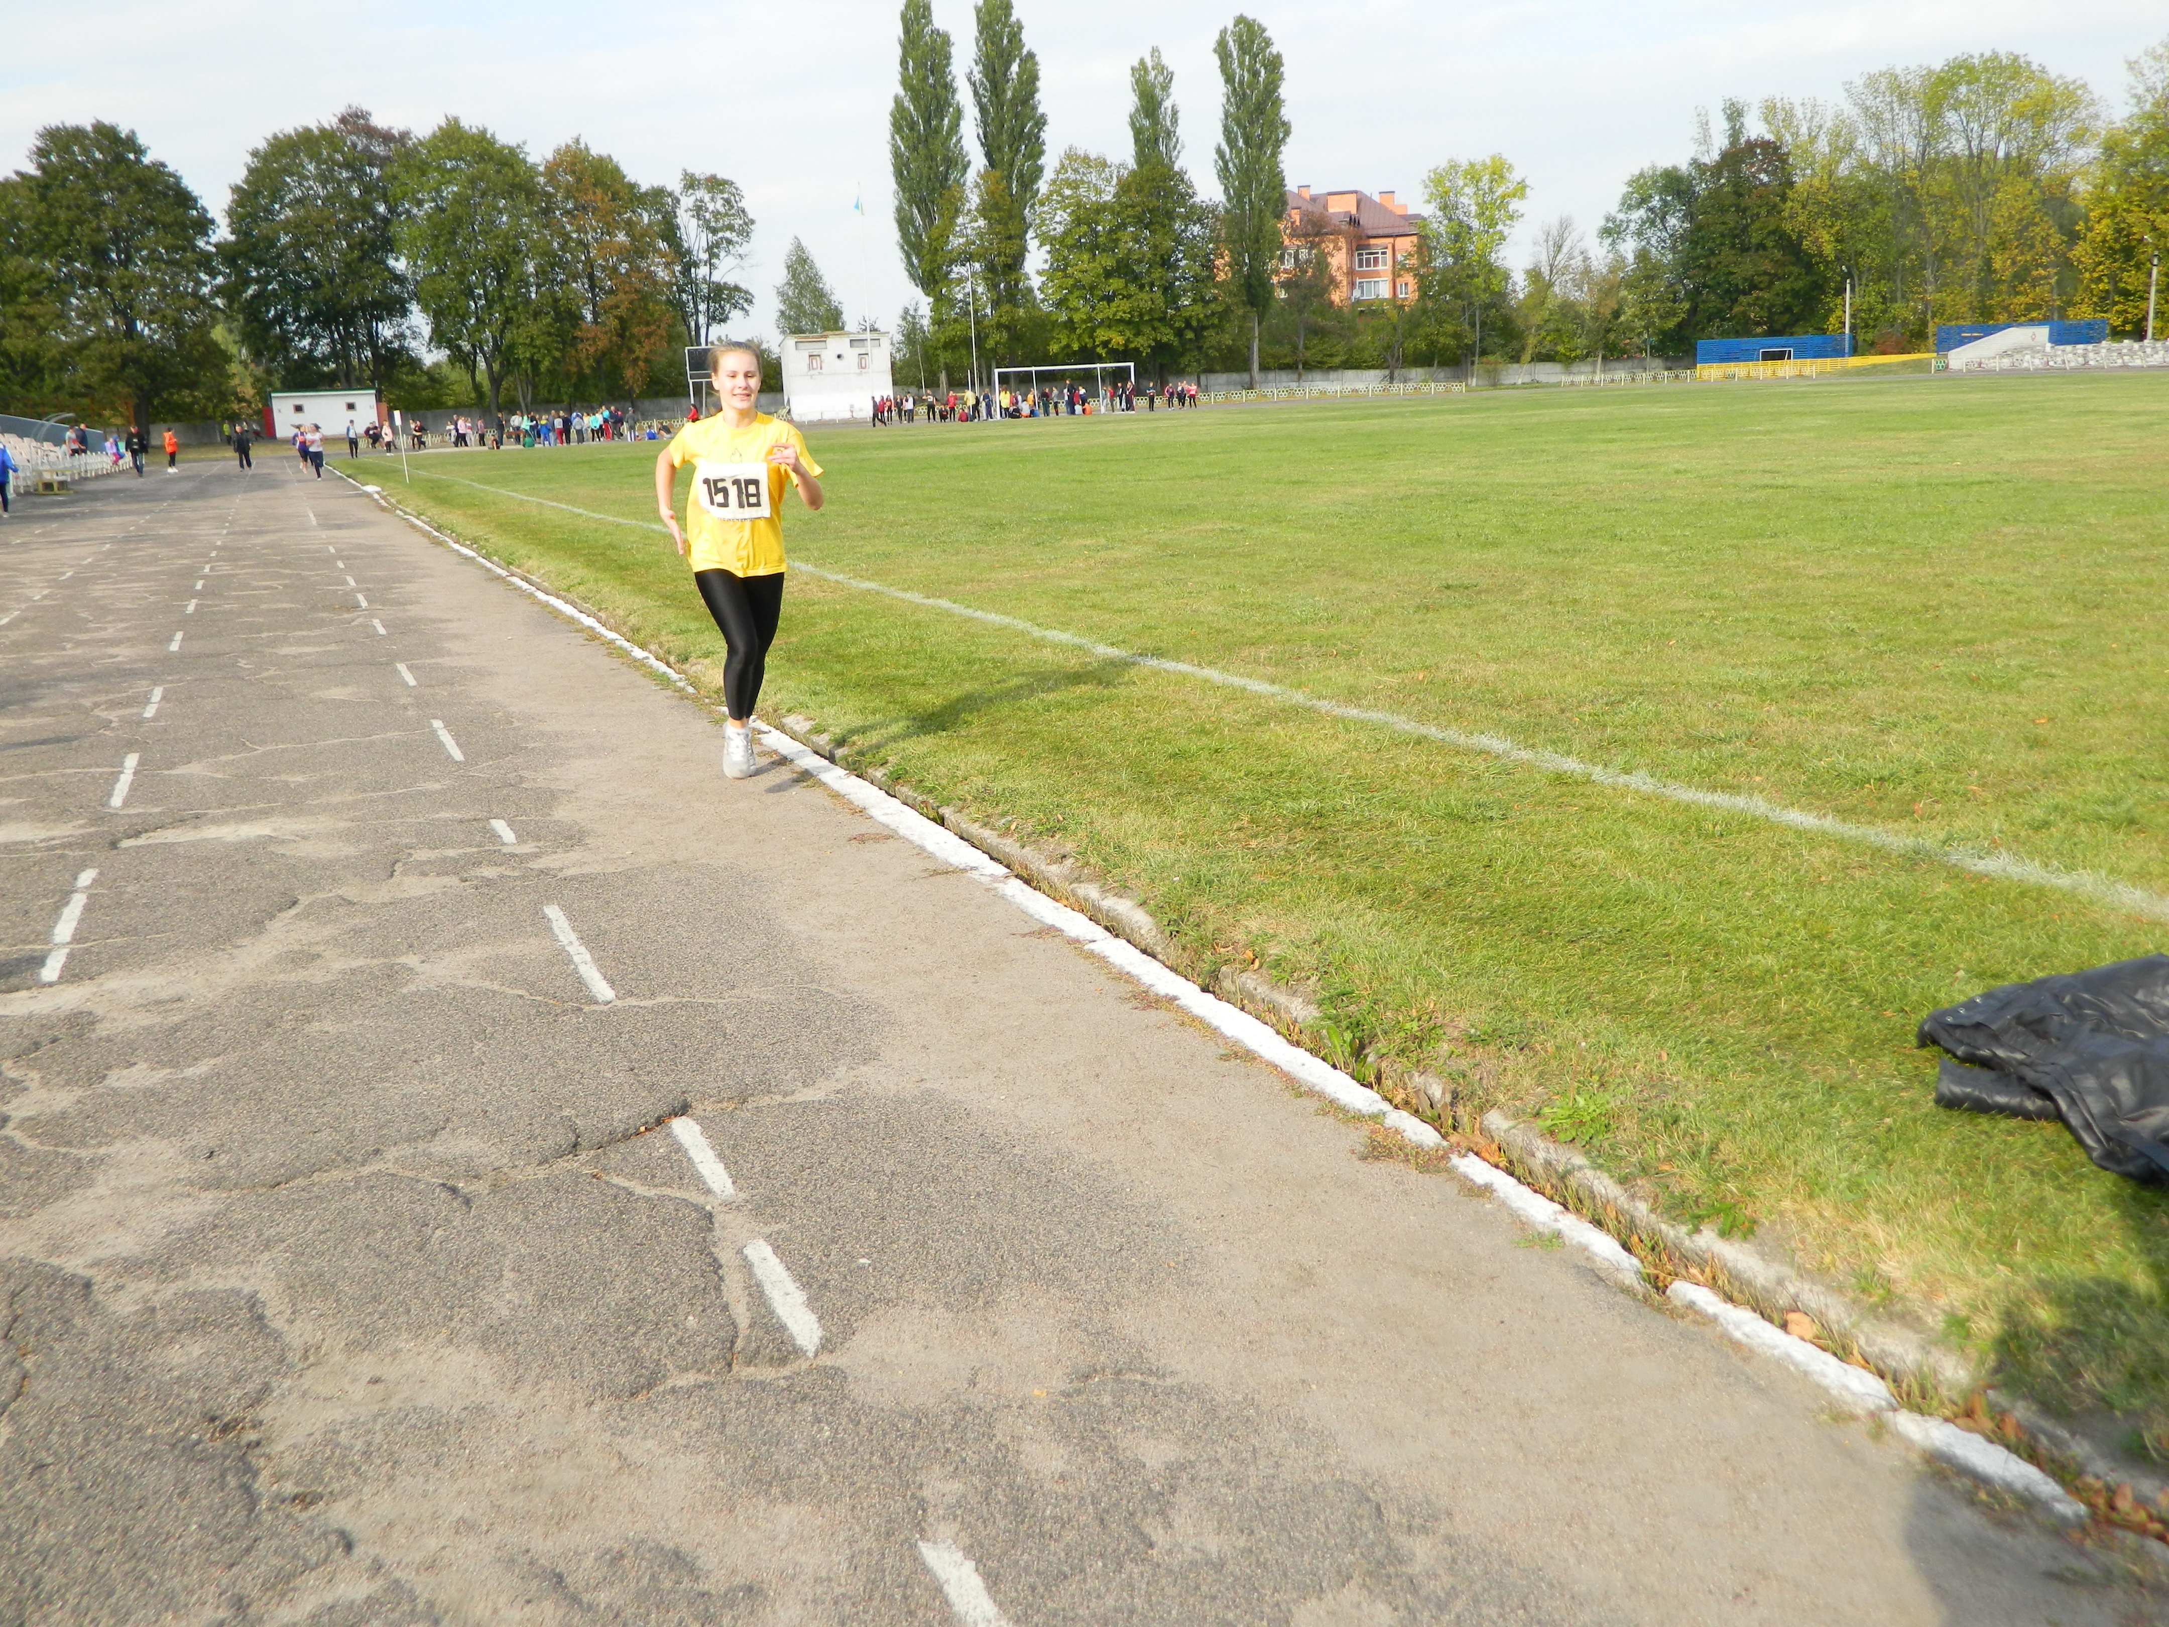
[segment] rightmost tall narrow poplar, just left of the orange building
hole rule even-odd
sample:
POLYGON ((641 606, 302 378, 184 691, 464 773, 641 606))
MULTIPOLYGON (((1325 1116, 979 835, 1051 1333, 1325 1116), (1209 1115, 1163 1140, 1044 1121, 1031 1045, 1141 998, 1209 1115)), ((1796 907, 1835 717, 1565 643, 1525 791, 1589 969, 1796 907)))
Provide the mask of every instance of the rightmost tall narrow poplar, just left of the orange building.
POLYGON ((1282 61, 1265 24, 1243 15, 1219 30, 1212 54, 1221 69, 1221 141, 1212 152, 1221 249, 1236 302, 1249 310, 1249 386, 1258 388, 1258 323, 1273 304, 1280 223, 1288 213, 1288 180, 1280 169, 1288 148, 1282 61))

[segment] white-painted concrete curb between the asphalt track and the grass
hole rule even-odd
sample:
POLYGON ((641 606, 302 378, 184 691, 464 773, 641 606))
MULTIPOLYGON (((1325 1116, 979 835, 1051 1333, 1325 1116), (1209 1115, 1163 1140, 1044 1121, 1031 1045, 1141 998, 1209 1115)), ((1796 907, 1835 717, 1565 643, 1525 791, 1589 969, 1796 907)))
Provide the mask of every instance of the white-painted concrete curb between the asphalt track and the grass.
MULTIPOLYGON (((651 670, 668 679, 675 688, 694 694, 694 686, 677 668, 672 668, 668 662, 653 655, 651 651, 642 649, 640 644, 633 644, 623 633, 612 631, 592 612, 562 599, 560 594, 531 581, 523 573, 497 564, 495 560, 477 553, 464 542, 458 542, 445 531, 438 531, 419 514, 412 514, 410 510, 395 503, 388 495, 382 492, 382 488, 360 486, 360 482, 351 482, 351 477, 347 479, 358 490, 373 497, 377 503, 382 503, 386 510, 414 525, 425 536, 442 542, 445 547, 469 560, 475 560, 492 575, 516 586, 521 592, 527 592, 529 597, 542 601, 551 610, 564 614, 575 625, 583 627, 586 631, 592 631, 596 638, 603 638, 609 644, 618 646, 642 666, 649 666, 651 670)), ((805 720, 798 718, 787 718, 787 722, 805 727, 805 720)), ((1089 950, 1091 955, 1098 955, 1117 970, 1126 972, 1130 978, 1141 983, 1152 994, 1158 994, 1169 1002, 1173 1002, 1176 1007, 1180 1007, 1182 1011, 1199 1017, 1215 1033, 1221 1033, 1223 1037, 1236 1041, 1238 1046, 1256 1054, 1260 1061, 1267 1061, 1273 1067, 1282 1069, 1299 1085, 1304 1085, 1308 1091, 1323 1096, 1336 1106, 1356 1113, 1360 1117, 1379 1119, 1386 1128, 1399 1132, 1406 1141, 1410 1141, 1416 1148, 1438 1150, 1447 1145, 1445 1137, 1423 1119, 1392 1106, 1377 1091, 1369 1089, 1366 1085, 1360 1085, 1358 1080, 1343 1074, 1338 1067, 1332 1067, 1319 1056, 1312 1056, 1308 1050, 1301 1050, 1299 1046, 1291 1043, 1260 1017, 1241 1011, 1236 1004, 1215 994, 1208 994, 1191 978, 1165 965, 1156 955, 1150 955, 1143 946, 1132 941, 1130 933, 1119 931, 1121 926, 1128 926, 1147 941, 1156 941, 1163 952, 1167 950, 1167 939, 1160 933, 1158 922, 1154 922, 1152 915, 1137 900, 1108 894, 1093 883, 1082 883, 1080 876, 1058 879, 1054 866, 1039 861, 1037 855, 1030 855, 1030 850, 1024 848, 1024 844, 1002 837, 993 831, 985 831, 983 827, 976 827, 967 820, 961 820, 950 809, 935 809, 941 816, 941 822, 937 822, 937 818, 928 818, 920 809, 909 807, 902 800, 902 796, 898 796, 894 790, 874 785, 872 781, 861 779, 859 774, 852 774, 850 770, 842 768, 833 759, 829 742, 820 735, 813 735, 811 729, 807 729, 809 740, 805 742, 785 733, 783 729, 774 729, 772 725, 759 725, 759 731, 761 731, 761 742, 770 746, 777 755, 781 755, 794 768, 805 772, 809 779, 820 781, 824 787, 848 800, 852 807, 859 807, 870 818, 878 820, 885 829, 904 837, 907 842, 922 848, 931 857, 954 866, 957 870, 970 874, 974 881, 1002 894, 1002 898, 1017 905, 1024 913, 1032 915, 1045 926, 1052 926, 1080 948, 1089 950), (970 831, 972 835, 987 837, 987 842, 978 844, 967 840, 963 833, 948 829, 946 822, 948 818, 954 818, 957 824, 963 824, 965 831, 970 831), (1006 848, 1009 853, 996 857, 993 853, 985 850, 987 846, 1006 848), (1095 905, 1098 911, 1104 911, 1113 920, 1102 924, 1100 920, 1093 920, 1089 913, 1071 909, 1058 898, 1048 896, 1048 892, 1026 885, 1024 881, 1017 879, 1017 874, 1013 874, 1013 868, 1004 861, 1009 857, 1015 857, 1019 861, 1015 868, 1026 870, 1026 874, 1043 876, 1061 892, 1069 892, 1080 902, 1095 905)), ((909 796, 909 792, 904 792, 904 796, 909 796)), ((1286 1004, 1293 1007, 1295 998, 1286 998, 1286 1004)), ((1544 1165, 1570 1171, 1573 1176, 1570 1184, 1579 1187, 1590 1197, 1603 1193, 1605 1210, 1612 1210, 1614 1215, 1620 1217, 1633 1215, 1638 1224, 1646 1217, 1648 1230, 1657 1232, 1666 1241, 1666 1245, 1672 1245, 1672 1237, 1679 1237, 1681 1243, 1692 1245, 1698 1254, 1707 1256, 1711 1263, 1722 1265, 1727 1273, 1733 1273, 1737 1265, 1740 1276, 1746 1276, 1748 1280, 1761 1278, 1763 1282, 1785 1282, 1785 1286, 1794 1284, 1811 1286, 1805 1284, 1800 1278, 1796 1278, 1796 1273, 1787 1271, 1785 1267, 1779 1267, 1761 1258, 1753 1250, 1740 1247, 1737 1243, 1716 1239, 1714 1234, 1707 1232, 1698 1234, 1681 1232, 1681 1228, 1670 1226, 1668 1221, 1653 1215, 1644 1204, 1633 1200, 1609 1176, 1603 1176, 1603 1171, 1594 1169, 1594 1165, 1581 1158, 1581 1154, 1573 1152, 1570 1148, 1544 1141, 1542 1137, 1536 1137, 1533 1130, 1518 1126, 1505 1115, 1490 1113, 1484 1117, 1481 1124, 1486 1132, 1490 1132, 1492 1139, 1499 1141, 1501 1145, 1507 1145, 1507 1137, 1512 1137, 1523 1148, 1531 1150, 1538 1150, 1540 1143, 1544 1165), (1497 1132, 1492 1128, 1494 1122, 1497 1122, 1497 1132)), ((1631 1291, 1646 1289, 1646 1276, 1642 1263, 1616 1237, 1612 1237, 1612 1232, 1601 1230, 1599 1226, 1581 1219, 1562 1204, 1553 1202, 1551 1197, 1544 1197, 1533 1187, 1514 1178, 1505 1169, 1486 1163, 1484 1158, 1477 1158, 1473 1154, 1458 1154, 1451 1158, 1451 1167, 1458 1176, 1462 1176, 1471 1184, 1499 1197, 1525 1224, 1538 1230, 1555 1232, 1564 1241, 1573 1243, 1612 1282, 1631 1291)), ((1820 1291, 1818 1297, 1828 1297, 1828 1291, 1820 1291)), ((2030 1503, 2050 1519, 2063 1523, 2084 1523, 2089 1519, 2087 1508, 2078 1499, 2067 1495, 2063 1486, 2056 1484, 2054 1477, 2050 1477, 2041 1469, 2035 1469, 2017 1453, 1978 1434, 1961 1430, 1959 1425, 1948 1423, 1946 1419, 1937 1419, 1924 1412, 1907 1412, 1896 1404, 1896 1397, 1891 1395, 1889 1386, 1883 1384, 1883 1380, 1876 1378, 1874 1373, 1850 1367, 1848 1362, 1837 1360, 1822 1347, 1805 1338, 1798 1338, 1794 1334, 1787 1334, 1781 1328, 1774 1328, 1761 1315, 1744 1306, 1731 1304, 1711 1289, 1677 1280, 1670 1284, 1670 1289, 1666 1289, 1666 1299, 1670 1299, 1674 1306, 1694 1310, 1696 1315, 1716 1321, 1718 1328, 1735 1343, 1748 1345, 1750 1349, 1757 1349, 1766 1356, 1785 1362, 1794 1371, 1815 1382, 1828 1395, 1833 1395, 1846 1410, 1854 1414, 1887 1419, 1896 1434, 1904 1436, 1935 1462, 1954 1469, 1956 1473, 1969 1475, 1972 1479, 1978 1479, 1980 1484, 1991 1486, 2004 1495, 2017 1497, 2019 1501, 2030 1503)))

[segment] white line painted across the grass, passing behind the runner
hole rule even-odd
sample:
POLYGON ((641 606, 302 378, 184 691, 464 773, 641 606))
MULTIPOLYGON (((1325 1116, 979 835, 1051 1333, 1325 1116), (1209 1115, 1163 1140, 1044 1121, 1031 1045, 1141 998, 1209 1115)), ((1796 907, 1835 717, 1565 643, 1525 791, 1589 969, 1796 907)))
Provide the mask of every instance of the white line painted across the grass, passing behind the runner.
MULTIPOLYGON (((579 514, 581 518, 603 521, 607 525, 631 525, 638 531, 655 531, 668 536, 662 525, 653 521, 627 521, 618 514, 596 514, 594 510, 573 508, 570 503, 557 503, 549 497, 529 497, 527 492, 508 492, 501 486, 484 486, 479 479, 460 479, 458 475, 440 475, 427 471, 429 479, 447 479, 453 486, 473 486, 477 492, 492 492, 497 497, 510 497, 518 503, 540 503, 542 508, 557 508, 566 514, 579 514)), ((857 588, 861 592, 876 592, 885 599, 900 599, 907 605, 920 605, 922 610, 939 610, 950 616, 965 616, 970 620, 983 623, 987 627, 1002 627, 1013 633, 1024 633, 1026 638, 1037 638, 1048 644, 1063 644, 1065 649, 1084 651, 1087 655, 1098 655, 1104 662, 1124 662, 1128 666, 1145 666, 1154 672, 1171 672, 1176 677, 1197 679, 1202 683, 1217 683, 1225 690, 1245 690, 1247 694, 1265 696, 1267 701, 1282 701, 1286 705, 1308 707, 1310 712, 1321 712, 1327 718, 1340 718, 1345 722, 1369 722, 1379 729, 1392 729, 1395 733, 1416 735, 1419 740, 1432 740, 1440 746, 1453 746, 1455 751, 1475 751, 1486 757, 1499 757, 1510 764, 1523 764, 1527 768, 1540 768, 1549 774, 1566 774, 1568 779, 1586 779, 1592 785, 1603 785, 1607 790, 1640 792, 1642 796, 1659 796, 1668 803, 1685 803, 1687 807, 1709 807, 1722 814, 1744 814, 1755 820, 1766 820, 1770 824, 1783 824, 1794 831, 1805 831, 1809 835, 1826 835, 1839 842, 1857 842, 1861 846, 1881 848, 1883 853, 1894 853, 1902 859, 1928 859, 1933 863, 1950 866, 1952 870, 1965 870, 1976 876, 1993 876, 1998 881, 2017 881, 2026 887, 2054 887, 2056 892, 2078 894, 2080 898, 2091 898, 2097 905, 2108 905, 2110 909, 2128 909, 2134 915, 2145 915, 2147 920, 2169 922, 2169 898, 2143 887, 2134 887, 2126 881, 2115 881, 2113 876, 2095 876, 2087 870, 2058 870, 2045 863, 2032 863, 2002 853, 1972 853, 1967 848, 1952 848, 1941 842, 1930 842, 1928 837, 1907 835, 1904 831, 1885 831, 1874 824, 1854 824, 1852 820, 1837 820, 1828 814, 1809 814, 1798 807, 1783 807, 1763 796, 1742 796, 1737 792, 1707 792, 1698 785, 1677 785, 1666 779, 1655 779, 1635 770, 1605 768, 1603 764, 1590 764, 1579 757, 1568 757, 1557 751, 1542 751, 1540 746, 1523 746, 1503 735, 1468 733, 1466 729, 1442 729, 1432 722, 1421 722, 1416 718, 1403 718, 1397 712, 1377 712, 1373 707, 1353 707, 1343 701, 1327 701, 1319 694, 1308 694, 1306 690, 1291 690, 1284 683, 1269 683, 1267 679, 1243 677, 1238 672, 1221 672, 1212 666, 1197 666, 1193 662, 1171 662, 1163 655, 1139 655, 1137 651, 1126 651, 1115 644, 1102 644, 1082 633, 1065 633, 1054 627, 1039 627, 1037 623, 1022 620, 1017 616, 1002 616, 993 610, 974 610, 972 605, 959 605, 954 599, 935 599, 931 594, 911 592, 909 588, 891 588, 883 581, 868 581, 863 577, 846 577, 839 571, 824 571, 816 564, 794 564, 794 571, 805 571, 809 577, 820 577, 822 581, 833 581, 839 588, 857 588)))

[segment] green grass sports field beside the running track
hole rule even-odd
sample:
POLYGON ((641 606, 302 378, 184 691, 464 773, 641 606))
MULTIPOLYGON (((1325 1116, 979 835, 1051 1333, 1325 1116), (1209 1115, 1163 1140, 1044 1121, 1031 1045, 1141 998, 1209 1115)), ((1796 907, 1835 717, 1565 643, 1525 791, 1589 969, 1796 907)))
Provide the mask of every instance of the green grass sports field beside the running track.
MULTIPOLYGON (((1499 393, 813 432, 794 558, 1425 725, 2169 892, 2169 380, 1499 393)), ((395 497, 705 681, 653 447, 395 497)), ((447 479, 451 477, 451 479, 447 479)), ((2169 1195, 1943 1113, 1913 1026, 2130 905, 1612 790, 798 575, 763 712, 1071 850, 1668 1213, 2169 1456, 2169 1195)), ((718 781, 718 796, 735 794, 718 781)))

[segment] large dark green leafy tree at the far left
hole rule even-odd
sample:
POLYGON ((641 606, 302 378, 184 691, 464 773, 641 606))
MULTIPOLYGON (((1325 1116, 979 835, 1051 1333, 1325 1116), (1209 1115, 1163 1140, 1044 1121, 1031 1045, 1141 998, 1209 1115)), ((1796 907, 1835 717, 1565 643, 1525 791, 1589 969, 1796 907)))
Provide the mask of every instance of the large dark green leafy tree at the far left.
POLYGON ((126 408, 143 427, 154 414, 228 412, 213 223, 187 182, 134 130, 104 121, 39 130, 17 182, 13 217, 52 302, 63 395, 126 408))

